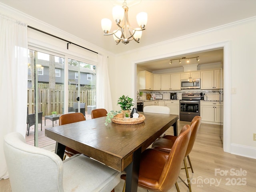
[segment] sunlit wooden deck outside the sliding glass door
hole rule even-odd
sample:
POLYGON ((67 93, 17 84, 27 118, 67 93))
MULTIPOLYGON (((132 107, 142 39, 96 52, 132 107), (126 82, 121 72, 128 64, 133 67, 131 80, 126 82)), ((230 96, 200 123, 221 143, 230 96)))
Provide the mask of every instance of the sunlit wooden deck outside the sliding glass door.
MULTIPOLYGON (((86 114, 85 118, 91 119, 92 116, 89 114, 86 114)), ((59 125, 59 120, 57 120, 56 122, 54 121, 54 126, 58 126, 58 125, 59 125)), ((50 127, 52 127, 52 121, 46 119, 46 125, 44 125, 44 117, 43 117, 42 118, 42 131, 41 131, 41 124, 38 124, 38 147, 44 148, 44 149, 47 149, 50 151, 54 151, 56 141, 52 140, 44 135, 45 128, 50 128, 50 127)), ((34 132, 35 132, 34 125, 30 127, 29 135, 28 135, 28 132, 26 131, 26 142, 27 142, 27 144, 30 144, 32 146, 34 146, 34 132)))

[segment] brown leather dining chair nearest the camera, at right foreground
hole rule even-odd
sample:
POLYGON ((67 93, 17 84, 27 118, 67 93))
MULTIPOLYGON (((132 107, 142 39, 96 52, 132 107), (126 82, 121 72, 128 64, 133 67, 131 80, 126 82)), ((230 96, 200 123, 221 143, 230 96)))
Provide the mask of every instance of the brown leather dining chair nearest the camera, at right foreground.
MULTIPOLYGON (((177 191, 180 191, 177 179, 188 147, 190 134, 190 126, 185 125, 169 154, 152 148, 142 152, 138 176, 139 187, 153 192, 166 192, 175 184, 177 191)), ((121 179, 125 180, 126 175, 122 174, 121 179)))

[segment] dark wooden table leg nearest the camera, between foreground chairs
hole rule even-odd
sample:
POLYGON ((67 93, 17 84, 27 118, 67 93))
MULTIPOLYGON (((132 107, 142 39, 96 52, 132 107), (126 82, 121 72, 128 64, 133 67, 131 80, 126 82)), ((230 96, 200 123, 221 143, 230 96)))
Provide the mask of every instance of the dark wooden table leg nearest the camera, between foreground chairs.
POLYGON ((140 171, 140 154, 141 147, 133 152, 133 160, 126 167, 126 192, 137 192, 138 189, 138 177, 140 171))

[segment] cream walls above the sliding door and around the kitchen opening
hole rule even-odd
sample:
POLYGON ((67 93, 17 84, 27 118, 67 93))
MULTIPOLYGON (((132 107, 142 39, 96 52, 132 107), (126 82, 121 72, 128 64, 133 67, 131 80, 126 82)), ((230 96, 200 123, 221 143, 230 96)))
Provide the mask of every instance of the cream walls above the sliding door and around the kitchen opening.
MULTIPOLYGON (((21 20, 30 26, 55 34, 103 55, 108 55, 113 110, 119 109, 116 102, 123 94, 136 98, 136 63, 188 54, 202 50, 202 48, 212 48, 212 45, 217 46, 218 43, 222 45, 225 42, 228 53, 225 53, 224 50, 224 55, 226 55, 224 69, 225 66, 228 67, 225 72, 226 76, 224 76, 224 86, 236 88, 236 94, 232 95, 230 95, 230 90, 225 89, 225 93, 228 95, 224 95, 224 99, 226 98, 228 101, 224 100, 224 129, 227 131, 224 133, 224 139, 229 141, 229 146, 226 146, 225 151, 256 158, 256 142, 252 139, 253 133, 256 133, 254 125, 256 90, 252 83, 256 73, 254 59, 256 17, 114 56, 100 47, 89 44, 21 12, 3 7, 1 4, 0 10, 3 14, 21 20)), ((78 58, 87 59, 93 63, 97 62, 96 54, 74 45, 70 45, 69 50, 66 50, 66 42, 40 32, 29 29, 28 38, 30 45, 39 45, 41 48, 57 50, 63 54, 76 54, 78 58)))

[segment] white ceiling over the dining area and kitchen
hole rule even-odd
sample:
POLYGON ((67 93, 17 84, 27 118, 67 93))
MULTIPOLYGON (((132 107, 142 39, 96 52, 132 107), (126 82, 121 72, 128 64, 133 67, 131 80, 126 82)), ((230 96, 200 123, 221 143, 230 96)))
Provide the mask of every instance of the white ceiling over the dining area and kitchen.
MULTIPOLYGON (((116 29, 112 19, 112 7, 117 2, 115 0, 0 0, 0 2, 114 54, 256 16, 256 0, 139 0, 132 6, 128 1, 128 18, 132 27, 138 27, 136 14, 142 11, 148 13, 148 23, 146 30, 142 32, 140 43, 131 41, 126 45, 122 43, 116 45, 113 37, 104 36, 101 29, 102 18, 112 20, 111 31, 116 29)), ((120 2, 122 4, 123 1, 120 2)), ((44 31, 43 28, 39 29, 44 31)), ((58 36, 58 34, 54 35, 58 36)), ((74 43, 79 44, 79 42, 74 43)), ((195 55, 200 56, 200 61, 197 62, 199 64, 222 62, 223 58, 222 51, 212 54, 196 53, 185 57, 195 55)), ((176 58, 181 57, 183 56, 176 58)), ((158 66, 157 70, 167 66, 174 68, 175 62, 178 61, 173 62, 172 65, 169 62, 169 58, 159 61, 157 65, 154 61, 152 65, 147 64, 147 67, 158 66)))

